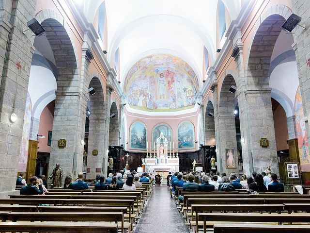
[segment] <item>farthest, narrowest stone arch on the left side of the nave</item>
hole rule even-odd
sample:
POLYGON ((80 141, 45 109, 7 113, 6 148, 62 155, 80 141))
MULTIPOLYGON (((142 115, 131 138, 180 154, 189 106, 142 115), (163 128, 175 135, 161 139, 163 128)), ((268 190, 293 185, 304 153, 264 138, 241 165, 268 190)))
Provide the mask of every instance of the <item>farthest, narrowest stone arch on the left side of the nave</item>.
POLYGON ((109 146, 118 146, 119 144, 119 114, 115 102, 112 102, 110 107, 110 125, 109 125, 109 146), (115 115, 112 117, 112 115, 115 115))

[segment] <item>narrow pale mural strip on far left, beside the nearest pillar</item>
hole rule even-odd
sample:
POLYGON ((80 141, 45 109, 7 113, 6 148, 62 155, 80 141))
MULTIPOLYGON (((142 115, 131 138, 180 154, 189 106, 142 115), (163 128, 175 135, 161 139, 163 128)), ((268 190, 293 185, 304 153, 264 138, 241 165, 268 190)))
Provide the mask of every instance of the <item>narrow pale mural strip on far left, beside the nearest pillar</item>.
POLYGON ((25 107, 25 114, 24 114, 24 126, 23 126, 23 133, 22 133, 20 152, 19 152, 18 171, 27 170, 31 112, 32 112, 31 99, 30 99, 29 93, 27 93, 26 107, 25 107))

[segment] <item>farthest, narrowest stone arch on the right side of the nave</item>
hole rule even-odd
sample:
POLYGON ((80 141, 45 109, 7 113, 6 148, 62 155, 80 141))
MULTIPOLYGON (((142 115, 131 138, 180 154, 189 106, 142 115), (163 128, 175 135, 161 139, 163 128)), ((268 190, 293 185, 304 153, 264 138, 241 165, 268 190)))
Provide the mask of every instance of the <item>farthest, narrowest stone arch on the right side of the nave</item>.
POLYGON ((204 116, 204 132, 205 132, 205 142, 207 146, 215 146, 215 122, 214 122, 214 107, 211 100, 208 100, 205 108, 204 116), (213 116, 211 116, 212 114, 213 116))

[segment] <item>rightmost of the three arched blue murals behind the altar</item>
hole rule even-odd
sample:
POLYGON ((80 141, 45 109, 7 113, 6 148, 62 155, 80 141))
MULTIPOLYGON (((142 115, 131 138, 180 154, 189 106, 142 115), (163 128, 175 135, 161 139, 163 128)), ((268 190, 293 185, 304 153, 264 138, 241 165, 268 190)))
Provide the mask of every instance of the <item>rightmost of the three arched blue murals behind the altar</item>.
POLYGON ((178 149, 193 149, 194 135, 194 125, 189 121, 182 122, 178 127, 178 149))

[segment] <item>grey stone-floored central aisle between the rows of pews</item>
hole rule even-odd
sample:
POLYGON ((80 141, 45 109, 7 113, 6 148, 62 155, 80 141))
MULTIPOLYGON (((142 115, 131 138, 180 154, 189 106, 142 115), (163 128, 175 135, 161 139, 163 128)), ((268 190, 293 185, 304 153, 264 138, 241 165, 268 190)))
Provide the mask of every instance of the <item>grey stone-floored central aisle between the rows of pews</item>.
POLYGON ((154 187, 135 233, 189 233, 168 188, 154 187))

